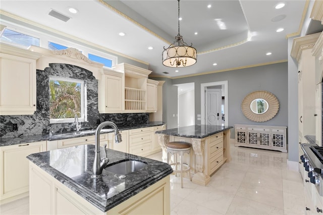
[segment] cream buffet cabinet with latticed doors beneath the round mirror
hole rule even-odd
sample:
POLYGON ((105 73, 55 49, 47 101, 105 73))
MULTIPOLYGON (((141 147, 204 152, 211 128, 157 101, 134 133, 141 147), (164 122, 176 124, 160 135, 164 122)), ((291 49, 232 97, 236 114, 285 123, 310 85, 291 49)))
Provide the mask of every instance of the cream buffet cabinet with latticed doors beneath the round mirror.
POLYGON ((235 146, 287 152, 286 126, 235 125, 235 146))

